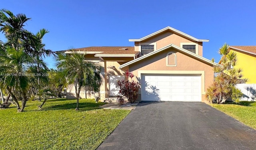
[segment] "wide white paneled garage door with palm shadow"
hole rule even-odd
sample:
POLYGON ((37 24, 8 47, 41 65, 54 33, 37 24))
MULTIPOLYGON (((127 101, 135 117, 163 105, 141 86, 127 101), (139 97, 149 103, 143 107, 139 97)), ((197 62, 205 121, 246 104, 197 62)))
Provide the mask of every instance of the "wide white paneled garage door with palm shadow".
POLYGON ((142 101, 201 102, 201 75, 142 74, 142 101))

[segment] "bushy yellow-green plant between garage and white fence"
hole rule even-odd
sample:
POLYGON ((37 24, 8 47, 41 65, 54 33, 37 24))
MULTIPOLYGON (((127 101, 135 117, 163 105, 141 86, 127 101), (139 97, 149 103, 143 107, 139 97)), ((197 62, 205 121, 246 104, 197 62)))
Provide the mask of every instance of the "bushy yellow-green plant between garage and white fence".
MULTIPOLYGON (((222 104, 228 98, 239 103, 242 93, 235 87, 241 80, 247 82, 247 79, 241 79, 242 69, 236 69, 236 53, 230 51, 229 45, 225 43, 220 47, 218 53, 221 55, 220 65, 214 66, 214 83, 208 87, 206 97, 211 103, 222 104)), ((212 60, 214 62, 214 59, 212 60)))

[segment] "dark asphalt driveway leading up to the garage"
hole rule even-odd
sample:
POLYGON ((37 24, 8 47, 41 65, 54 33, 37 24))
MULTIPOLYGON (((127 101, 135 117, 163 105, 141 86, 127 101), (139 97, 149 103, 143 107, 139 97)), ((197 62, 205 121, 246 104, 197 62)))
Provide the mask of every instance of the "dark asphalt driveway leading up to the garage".
POLYGON ((255 150, 256 130, 200 102, 140 103, 98 150, 255 150))

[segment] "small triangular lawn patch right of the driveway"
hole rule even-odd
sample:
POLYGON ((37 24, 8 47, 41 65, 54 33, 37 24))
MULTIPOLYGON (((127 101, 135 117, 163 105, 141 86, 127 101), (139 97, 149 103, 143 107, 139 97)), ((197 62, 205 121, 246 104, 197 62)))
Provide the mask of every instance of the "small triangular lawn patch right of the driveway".
POLYGON ((239 105, 235 103, 210 105, 256 129, 256 102, 242 101, 239 105))

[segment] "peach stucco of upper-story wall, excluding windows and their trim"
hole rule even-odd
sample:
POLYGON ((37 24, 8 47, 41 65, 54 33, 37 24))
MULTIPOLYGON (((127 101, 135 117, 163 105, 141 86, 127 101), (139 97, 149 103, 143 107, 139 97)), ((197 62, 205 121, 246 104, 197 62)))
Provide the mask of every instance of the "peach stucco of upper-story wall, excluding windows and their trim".
POLYGON ((200 56, 203 55, 202 42, 191 41, 190 39, 183 38, 182 36, 174 34, 173 32, 170 32, 170 31, 163 32, 161 34, 158 34, 152 38, 146 39, 141 42, 135 42, 134 43, 135 51, 140 51, 139 43, 154 43, 154 42, 156 42, 156 49, 160 49, 169 44, 174 44, 180 47, 180 43, 195 43, 195 44, 198 44, 198 55, 200 56))

